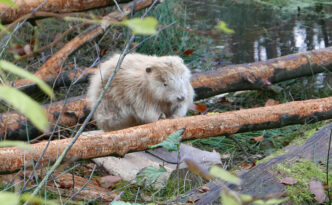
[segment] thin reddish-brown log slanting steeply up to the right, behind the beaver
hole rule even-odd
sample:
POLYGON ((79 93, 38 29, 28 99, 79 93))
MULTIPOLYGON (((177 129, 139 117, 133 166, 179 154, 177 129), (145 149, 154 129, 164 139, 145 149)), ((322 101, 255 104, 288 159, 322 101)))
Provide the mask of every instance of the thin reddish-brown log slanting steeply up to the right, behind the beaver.
MULTIPOLYGON (((48 59, 42 67, 35 73, 35 76, 43 79, 46 82, 56 79, 62 70, 62 65, 67 60, 68 56, 72 54, 77 48, 79 48, 84 43, 93 40, 97 36, 104 33, 106 28, 111 24, 111 21, 120 21, 125 16, 130 14, 131 7, 135 6, 135 11, 144 9, 151 5, 153 0, 138 0, 134 3, 125 6, 120 11, 114 11, 102 19, 101 25, 95 26, 93 29, 86 31, 85 33, 76 36, 74 39, 69 41, 63 48, 61 48, 55 55, 48 59)), ((13 83, 14 87, 21 87, 23 85, 31 84, 31 81, 28 79, 17 80, 13 83)))

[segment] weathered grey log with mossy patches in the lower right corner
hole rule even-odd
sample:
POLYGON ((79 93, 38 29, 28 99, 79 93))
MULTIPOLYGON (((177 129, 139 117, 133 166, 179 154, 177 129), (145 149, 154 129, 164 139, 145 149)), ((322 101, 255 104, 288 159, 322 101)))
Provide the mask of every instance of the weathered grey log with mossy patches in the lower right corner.
MULTIPOLYGON (((286 154, 276 156, 242 174, 241 179, 243 183, 240 192, 250 194, 254 197, 264 197, 283 193, 286 190, 287 185, 282 184, 280 179, 278 179, 278 172, 274 169, 276 165, 284 162, 292 164, 305 160, 316 163, 317 159, 325 162, 331 131, 332 124, 325 126, 302 146, 292 147, 286 154)), ((332 154, 330 153, 330 158, 332 158, 331 155, 332 154)), ((313 178, 315 178, 315 176, 313 176, 313 178)), ((215 182, 210 182, 204 186, 209 187, 210 190, 203 194, 197 190, 191 190, 179 197, 176 201, 179 203, 186 203, 189 198, 194 198, 199 199, 195 202, 196 205, 213 204, 213 202, 220 198, 220 192, 223 188, 215 182)), ((230 188, 234 188, 234 186, 230 186, 230 188)))

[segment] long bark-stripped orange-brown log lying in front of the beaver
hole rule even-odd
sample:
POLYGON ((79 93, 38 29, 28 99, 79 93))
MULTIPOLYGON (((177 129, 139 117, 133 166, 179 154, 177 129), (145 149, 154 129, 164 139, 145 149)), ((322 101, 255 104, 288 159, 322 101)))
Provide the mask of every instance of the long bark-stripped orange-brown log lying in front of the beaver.
MULTIPOLYGON (((165 119, 124 130, 82 135, 67 153, 66 159, 124 155, 130 151, 145 150, 149 145, 160 143, 171 133, 182 128, 186 129, 183 139, 191 139, 313 123, 330 118, 332 118, 332 97, 220 114, 165 119)), ((58 153, 62 153, 71 140, 68 138, 52 141, 41 162, 47 164, 55 161, 58 153)), ((13 172, 31 160, 37 160, 46 143, 32 144, 31 154, 16 147, 1 148, 0 172, 13 172)))

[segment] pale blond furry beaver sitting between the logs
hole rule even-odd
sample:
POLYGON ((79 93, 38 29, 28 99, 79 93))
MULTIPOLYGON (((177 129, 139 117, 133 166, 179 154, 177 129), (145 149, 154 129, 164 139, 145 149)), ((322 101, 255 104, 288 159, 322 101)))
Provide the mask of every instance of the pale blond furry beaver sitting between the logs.
MULTIPOLYGON (((91 107, 120 55, 101 63, 90 78, 88 101, 91 107)), ((128 54, 94 113, 99 129, 112 131, 186 115, 193 104, 191 73, 178 56, 128 54)))

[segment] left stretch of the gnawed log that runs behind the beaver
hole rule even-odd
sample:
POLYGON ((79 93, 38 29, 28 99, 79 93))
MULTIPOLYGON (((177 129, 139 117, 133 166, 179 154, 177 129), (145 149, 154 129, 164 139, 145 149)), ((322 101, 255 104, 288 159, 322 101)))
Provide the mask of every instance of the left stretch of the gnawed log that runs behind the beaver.
MULTIPOLYGON (((64 101, 58 101, 44 106, 51 127, 57 121, 63 104, 64 101)), ((59 125, 62 127, 74 126, 83 122, 89 112, 90 109, 85 98, 70 98, 66 101, 59 125)), ((25 116, 17 112, 0 114, 1 140, 27 140, 27 135, 33 139, 40 134, 42 133, 27 121, 25 116)))

